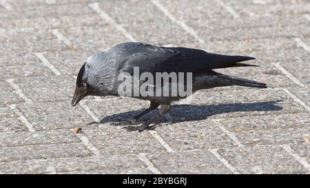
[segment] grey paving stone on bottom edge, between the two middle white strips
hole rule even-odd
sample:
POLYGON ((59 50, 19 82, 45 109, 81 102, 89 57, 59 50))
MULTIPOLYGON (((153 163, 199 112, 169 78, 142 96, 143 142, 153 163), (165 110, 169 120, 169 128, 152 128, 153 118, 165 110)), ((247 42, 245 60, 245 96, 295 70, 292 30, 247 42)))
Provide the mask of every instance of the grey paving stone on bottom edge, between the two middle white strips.
POLYGON ((147 157, 164 174, 232 174, 207 151, 157 153, 148 154, 147 157))

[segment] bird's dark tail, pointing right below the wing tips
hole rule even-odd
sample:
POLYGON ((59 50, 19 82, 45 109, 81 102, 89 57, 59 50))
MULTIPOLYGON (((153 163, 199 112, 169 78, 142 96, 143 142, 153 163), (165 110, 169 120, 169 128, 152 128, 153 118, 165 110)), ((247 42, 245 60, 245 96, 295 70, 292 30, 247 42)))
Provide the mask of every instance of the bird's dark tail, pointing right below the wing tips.
POLYGON ((250 81, 247 79, 240 79, 235 76, 229 76, 225 74, 219 74, 216 76, 214 80, 216 83, 224 84, 224 85, 239 85, 245 87, 258 87, 258 88, 267 88, 266 83, 260 83, 257 81, 250 81))

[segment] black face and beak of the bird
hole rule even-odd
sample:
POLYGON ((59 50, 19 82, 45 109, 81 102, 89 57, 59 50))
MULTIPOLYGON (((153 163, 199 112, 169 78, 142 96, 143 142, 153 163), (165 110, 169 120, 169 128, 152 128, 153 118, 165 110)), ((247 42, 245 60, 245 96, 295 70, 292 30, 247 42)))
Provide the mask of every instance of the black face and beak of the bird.
POLYGON ((77 105, 87 94, 89 94, 89 85, 87 85, 87 78, 85 76, 85 65, 81 67, 79 74, 76 78, 76 86, 74 91, 74 96, 72 98, 72 106, 77 105))

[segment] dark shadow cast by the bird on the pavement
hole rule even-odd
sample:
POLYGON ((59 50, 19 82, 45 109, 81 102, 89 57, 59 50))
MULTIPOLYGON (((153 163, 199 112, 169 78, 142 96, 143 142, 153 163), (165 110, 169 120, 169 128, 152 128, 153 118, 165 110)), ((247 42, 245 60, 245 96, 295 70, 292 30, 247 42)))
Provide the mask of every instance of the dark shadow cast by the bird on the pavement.
MULTIPOLYGON (((158 123, 179 123, 183 121, 199 121, 203 120, 209 116, 214 116, 216 114, 225 114, 233 112, 269 112, 269 111, 279 111, 282 107, 278 106, 277 103, 281 101, 267 101, 267 102, 256 102, 256 103, 231 103, 231 104, 218 104, 218 105, 172 105, 172 110, 169 112, 169 116, 165 115, 161 118, 158 123), (172 117, 172 118, 171 118, 172 117)), ((119 122, 127 121, 130 118, 136 116, 144 109, 134 110, 130 112, 123 112, 119 114, 113 114, 111 116, 106 116, 101 119, 101 123, 119 122)), ((145 121, 152 118, 154 114, 158 113, 158 110, 154 110, 139 121, 145 121)), ((95 122, 88 123, 94 124, 95 122)))

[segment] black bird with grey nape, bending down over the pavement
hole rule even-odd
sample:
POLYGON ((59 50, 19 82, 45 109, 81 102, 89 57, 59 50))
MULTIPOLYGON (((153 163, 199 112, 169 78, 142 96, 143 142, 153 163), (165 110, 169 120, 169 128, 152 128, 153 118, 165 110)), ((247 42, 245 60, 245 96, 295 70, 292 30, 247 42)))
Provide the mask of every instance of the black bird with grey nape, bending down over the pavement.
MULTIPOLYGON (((250 56, 211 54, 203 50, 191 48, 165 48, 145 43, 121 43, 110 48, 110 50, 93 54, 87 59, 76 79, 72 106, 79 103, 87 95, 120 96, 118 87, 123 81, 120 81, 118 76, 126 72, 127 74, 125 75, 133 79, 136 76, 134 75, 134 67, 139 68, 140 74, 143 72, 151 73, 154 79, 156 79, 156 72, 175 72, 176 74, 180 72, 189 74, 191 72, 193 92, 228 85, 267 88, 265 83, 240 79, 214 71, 215 69, 227 67, 256 66, 239 63, 252 59, 254 58, 250 56)), ((170 80, 168 82, 172 83, 170 80)), ((141 80, 138 77, 138 83, 139 85, 143 85, 146 83, 146 80, 141 80)), ((154 87, 155 90, 158 89, 158 87, 155 87, 156 84, 148 86, 154 87)), ((133 90, 134 83, 130 87, 133 90)), ((161 88, 163 89, 163 87, 161 88)), ((169 90, 169 92, 172 92, 171 85, 169 86, 169 90)), ((150 125, 156 123, 158 118, 169 112, 171 109, 170 103, 186 96, 141 96, 139 94, 138 96, 132 97, 150 101, 149 108, 145 109, 141 114, 134 116, 130 121, 114 123, 114 125, 135 125, 137 124, 138 118, 157 109, 159 105, 161 105, 161 108, 156 116, 142 123, 142 125, 125 127, 128 131, 154 129, 155 125, 150 125)))

